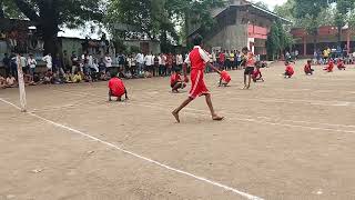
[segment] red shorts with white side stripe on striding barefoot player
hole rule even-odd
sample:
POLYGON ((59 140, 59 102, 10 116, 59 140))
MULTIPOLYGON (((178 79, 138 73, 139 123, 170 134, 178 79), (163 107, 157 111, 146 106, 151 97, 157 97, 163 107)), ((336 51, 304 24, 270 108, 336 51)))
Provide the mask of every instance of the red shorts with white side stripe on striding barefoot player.
POLYGON ((200 96, 207 94, 210 91, 204 84, 203 80, 203 71, 192 69, 191 71, 191 90, 189 97, 192 99, 196 99, 200 96))

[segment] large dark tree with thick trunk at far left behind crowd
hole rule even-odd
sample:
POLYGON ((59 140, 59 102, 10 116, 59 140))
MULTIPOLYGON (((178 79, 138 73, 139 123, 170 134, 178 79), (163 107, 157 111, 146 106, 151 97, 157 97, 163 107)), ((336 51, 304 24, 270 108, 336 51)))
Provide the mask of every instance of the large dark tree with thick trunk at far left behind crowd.
POLYGON ((3 17, 27 18, 34 22, 44 41, 44 53, 59 51, 58 32, 61 26, 84 26, 101 21, 104 7, 101 0, 2 0, 3 17))

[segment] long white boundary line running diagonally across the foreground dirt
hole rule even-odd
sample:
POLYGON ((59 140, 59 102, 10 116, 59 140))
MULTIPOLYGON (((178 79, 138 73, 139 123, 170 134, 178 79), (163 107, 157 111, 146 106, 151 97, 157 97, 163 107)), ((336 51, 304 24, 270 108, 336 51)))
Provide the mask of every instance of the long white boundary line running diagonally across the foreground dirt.
MULTIPOLYGON (((4 102, 4 103, 7 103, 7 104, 10 104, 10 106, 14 107, 14 108, 18 109, 18 110, 21 110, 20 107, 16 106, 16 104, 13 104, 12 102, 9 102, 9 101, 7 101, 7 100, 4 100, 4 99, 2 99, 2 98, 0 98, 0 101, 4 102)), ((120 148, 120 147, 118 147, 118 146, 115 146, 115 144, 113 144, 113 143, 110 143, 110 142, 108 142, 108 141, 101 140, 101 139, 99 139, 99 138, 95 138, 95 137, 93 137, 93 136, 90 136, 90 134, 88 134, 88 133, 84 133, 84 132, 82 132, 82 131, 79 131, 79 130, 77 130, 77 129, 73 129, 73 128, 63 126, 63 124, 61 124, 61 123, 57 123, 57 122, 51 121, 51 120, 49 120, 49 119, 42 118, 42 117, 40 117, 40 116, 38 116, 38 114, 36 114, 36 113, 32 113, 32 112, 27 112, 27 113, 28 113, 29 116, 33 117, 33 118, 40 119, 40 120, 42 120, 42 121, 45 121, 45 122, 48 122, 48 123, 50 123, 50 124, 52 124, 52 126, 54 126, 54 127, 59 127, 59 128, 65 129, 65 130, 68 130, 68 131, 74 132, 74 133, 77 133, 77 134, 83 136, 83 137, 85 137, 85 138, 89 138, 89 139, 91 139, 91 140, 101 142, 101 143, 103 143, 103 144, 105 144, 105 146, 108 146, 108 147, 111 147, 111 148, 113 148, 113 149, 116 149, 116 150, 119 150, 119 151, 121 151, 121 152, 123 152, 123 153, 130 154, 130 156, 132 156, 132 157, 135 157, 135 158, 141 159, 141 160, 144 160, 144 161, 148 161, 148 162, 153 163, 153 164, 155 164, 155 166, 159 166, 159 167, 161 167, 161 168, 165 168, 165 169, 168 169, 168 170, 170 170, 170 171, 174 171, 174 172, 176 172, 176 173, 181 173, 181 174, 184 174, 184 176, 194 178, 194 179, 196 179, 196 180, 200 180, 200 181, 210 183, 210 184, 212 184, 212 186, 222 188, 222 189, 224 189, 224 190, 226 190, 226 191, 231 191, 231 192, 233 192, 233 193, 236 193, 236 194, 239 194, 239 196, 241 196, 241 197, 243 197, 243 198, 250 199, 250 200, 263 200, 263 199, 260 198, 260 197, 256 197, 256 196, 252 196, 252 194, 250 194, 250 193, 242 192, 242 191, 236 190, 236 189, 234 189, 234 188, 232 188, 232 187, 229 187, 229 186, 225 186, 225 184, 215 182, 215 181, 213 181, 213 180, 209 180, 209 179, 206 179, 206 178, 199 177, 199 176, 195 176, 195 174, 193 174, 193 173, 190 173, 190 172, 186 172, 186 171, 183 171, 183 170, 180 170, 180 169, 176 169, 176 168, 173 168, 173 167, 163 164, 163 163, 161 163, 161 162, 159 162, 159 161, 155 161, 155 160, 152 160, 152 159, 150 159, 150 158, 140 156, 140 154, 134 153, 134 152, 132 152, 132 151, 124 150, 124 149, 122 149, 122 148, 120 148)))

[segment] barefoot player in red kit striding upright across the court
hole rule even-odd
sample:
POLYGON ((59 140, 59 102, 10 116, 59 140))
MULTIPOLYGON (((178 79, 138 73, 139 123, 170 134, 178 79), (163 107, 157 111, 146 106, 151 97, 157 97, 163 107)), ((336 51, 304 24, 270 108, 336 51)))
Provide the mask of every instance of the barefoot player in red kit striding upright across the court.
POLYGON ((204 79, 203 79, 204 68, 205 66, 213 68, 213 66, 209 62, 210 61, 209 54, 202 49, 202 46, 203 46, 202 40, 203 38, 200 34, 194 37, 193 39, 194 48, 189 53, 183 67, 185 81, 187 81, 189 79, 186 77, 186 64, 191 64, 192 86, 191 86, 189 98, 185 101, 183 101, 182 104, 172 112, 178 123, 180 122, 179 112, 183 108, 185 108, 191 101, 193 101, 200 96, 205 96, 206 103, 210 108, 212 119, 216 121, 223 120, 223 117, 220 117, 215 113, 212 106, 210 91, 207 90, 204 83, 204 79))

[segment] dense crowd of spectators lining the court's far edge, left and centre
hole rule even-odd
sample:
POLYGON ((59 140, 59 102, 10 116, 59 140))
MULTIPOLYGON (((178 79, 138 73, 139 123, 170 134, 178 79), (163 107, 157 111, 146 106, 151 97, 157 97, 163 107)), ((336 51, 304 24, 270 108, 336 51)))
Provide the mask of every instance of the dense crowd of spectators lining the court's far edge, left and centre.
MULTIPOLYGON (((187 54, 182 53, 118 53, 112 57, 109 53, 98 54, 84 53, 78 56, 74 51, 69 54, 63 51, 62 54, 51 53, 43 58, 34 58, 33 54, 28 57, 23 54, 11 53, 4 54, 2 60, 6 73, 0 76, 1 88, 17 87, 18 64, 22 68, 24 83, 34 84, 62 84, 79 83, 92 81, 106 81, 112 76, 119 74, 120 78, 152 78, 169 77, 182 66, 187 54), (39 69, 39 63, 45 64, 45 70, 39 69), (12 81, 12 78, 14 81, 12 81), (8 81, 7 81, 8 80, 8 81)), ((213 50, 209 53, 210 63, 219 70, 240 69, 242 62, 242 52, 237 50, 213 50)), ((256 57, 256 59, 260 59, 256 57)), ((264 67, 264 66, 263 66, 264 67)), ((187 68, 190 72, 190 68, 187 68)), ((205 72, 212 72, 213 69, 207 67, 205 72)))

